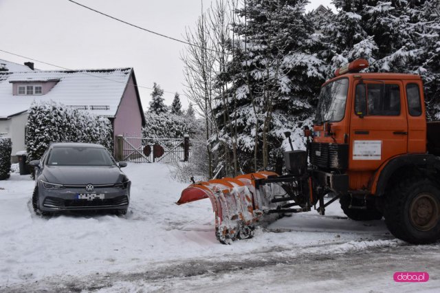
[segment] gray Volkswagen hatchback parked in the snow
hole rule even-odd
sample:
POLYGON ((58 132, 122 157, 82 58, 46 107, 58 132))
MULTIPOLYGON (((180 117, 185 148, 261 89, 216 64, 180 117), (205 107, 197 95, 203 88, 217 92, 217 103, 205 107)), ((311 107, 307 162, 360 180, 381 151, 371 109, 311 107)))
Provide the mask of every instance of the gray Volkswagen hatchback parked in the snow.
POLYGON ((126 214, 131 182, 100 144, 54 143, 35 167, 32 206, 39 215, 65 210, 113 210, 126 214))

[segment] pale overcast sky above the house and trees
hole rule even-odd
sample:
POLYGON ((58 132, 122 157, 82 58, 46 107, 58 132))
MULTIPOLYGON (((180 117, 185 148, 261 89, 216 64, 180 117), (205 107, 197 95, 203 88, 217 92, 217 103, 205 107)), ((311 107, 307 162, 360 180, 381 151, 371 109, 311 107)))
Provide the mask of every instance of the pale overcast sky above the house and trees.
MULTIPOLYGON (((76 0, 142 28, 183 39, 201 14, 202 0, 76 0)), ((307 10, 331 0, 311 0, 307 10)), ((208 8, 211 0, 203 0, 208 8)), ((175 91, 184 108, 184 44, 144 32, 104 17, 67 0, 0 0, 0 50, 12 52, 68 69, 133 67, 137 85, 159 84, 170 105, 175 91)), ((5 52, 0 59, 30 61, 5 52)), ((39 69, 59 69, 34 62, 39 69)), ((151 90, 140 88, 144 109, 151 90)))

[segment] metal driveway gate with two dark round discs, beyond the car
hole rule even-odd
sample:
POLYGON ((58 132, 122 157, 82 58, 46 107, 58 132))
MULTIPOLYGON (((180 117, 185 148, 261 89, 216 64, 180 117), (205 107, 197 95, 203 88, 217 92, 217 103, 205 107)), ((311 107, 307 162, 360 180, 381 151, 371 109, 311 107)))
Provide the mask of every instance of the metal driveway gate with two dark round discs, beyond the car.
POLYGON ((120 161, 185 162, 191 155, 189 136, 184 138, 133 138, 119 135, 116 157, 120 161))

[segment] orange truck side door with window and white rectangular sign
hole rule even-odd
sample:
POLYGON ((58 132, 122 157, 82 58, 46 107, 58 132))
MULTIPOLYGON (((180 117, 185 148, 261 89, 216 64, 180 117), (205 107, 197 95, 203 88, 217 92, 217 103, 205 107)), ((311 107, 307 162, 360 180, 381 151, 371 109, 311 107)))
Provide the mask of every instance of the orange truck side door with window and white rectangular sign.
POLYGON ((408 121, 399 80, 355 80, 350 123, 349 169, 376 170, 407 153, 408 121))

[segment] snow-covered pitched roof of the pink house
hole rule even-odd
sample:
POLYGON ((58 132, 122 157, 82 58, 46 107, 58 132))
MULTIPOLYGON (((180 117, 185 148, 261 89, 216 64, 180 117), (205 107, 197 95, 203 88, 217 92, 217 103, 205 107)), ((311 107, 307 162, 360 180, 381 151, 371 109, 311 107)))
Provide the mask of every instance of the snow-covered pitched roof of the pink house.
MULTIPOLYGON (((0 72, 0 118, 28 111, 34 101, 47 100, 61 102, 76 109, 86 109, 98 116, 115 117, 132 73, 132 68, 0 72), (56 82, 47 94, 12 94, 13 83, 46 81, 56 82)), ((136 83, 134 74, 133 83, 136 83)), ((140 102, 139 94, 137 98, 140 102)))

